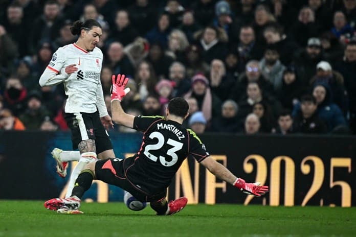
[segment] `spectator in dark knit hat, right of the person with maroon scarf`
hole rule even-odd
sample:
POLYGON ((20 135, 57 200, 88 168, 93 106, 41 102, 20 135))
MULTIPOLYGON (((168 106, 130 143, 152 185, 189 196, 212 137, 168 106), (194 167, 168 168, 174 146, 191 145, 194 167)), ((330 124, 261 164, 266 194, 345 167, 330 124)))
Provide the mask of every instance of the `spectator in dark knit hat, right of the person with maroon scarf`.
POLYGON ((32 91, 27 97, 27 108, 24 113, 19 115, 19 119, 24 123, 26 129, 39 129, 44 117, 50 116, 44 106, 42 106, 42 97, 38 92, 32 91))

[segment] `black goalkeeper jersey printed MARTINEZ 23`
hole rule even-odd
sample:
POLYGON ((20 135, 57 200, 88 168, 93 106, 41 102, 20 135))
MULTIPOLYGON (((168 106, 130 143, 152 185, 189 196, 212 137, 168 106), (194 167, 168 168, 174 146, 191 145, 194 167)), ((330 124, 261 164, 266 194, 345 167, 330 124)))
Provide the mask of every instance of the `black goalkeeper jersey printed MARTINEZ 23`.
POLYGON ((128 180, 147 193, 167 188, 188 154, 197 162, 209 156, 192 130, 162 116, 137 116, 133 128, 144 132, 142 145, 124 169, 128 180))

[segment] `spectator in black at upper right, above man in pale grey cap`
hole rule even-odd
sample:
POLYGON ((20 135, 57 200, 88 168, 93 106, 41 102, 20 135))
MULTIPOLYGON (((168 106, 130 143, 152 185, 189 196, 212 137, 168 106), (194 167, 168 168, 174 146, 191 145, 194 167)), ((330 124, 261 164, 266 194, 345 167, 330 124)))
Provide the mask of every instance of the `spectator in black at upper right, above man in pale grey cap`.
POLYGON ((290 29, 291 36, 304 47, 310 37, 318 37, 320 29, 315 22, 314 11, 310 7, 303 7, 299 11, 298 21, 290 29))

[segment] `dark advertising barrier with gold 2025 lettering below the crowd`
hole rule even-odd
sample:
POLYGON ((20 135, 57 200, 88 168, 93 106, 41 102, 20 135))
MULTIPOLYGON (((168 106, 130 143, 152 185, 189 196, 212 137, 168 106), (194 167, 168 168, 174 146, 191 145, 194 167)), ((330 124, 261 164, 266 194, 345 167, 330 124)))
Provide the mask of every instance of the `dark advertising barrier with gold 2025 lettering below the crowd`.
MULTIPOLYGON (((110 133, 117 157, 130 156, 141 133, 110 133)), ((247 196, 188 157, 168 188, 169 199, 189 203, 355 206, 356 143, 353 136, 224 135, 200 136, 208 152, 238 177, 270 186, 262 198, 247 196)), ((0 199, 49 199, 64 196, 69 175, 55 173, 50 152, 71 150, 68 132, 0 133, 0 199)), ((72 163, 69 169, 74 167, 72 163)), ((122 190, 94 181, 83 197, 121 201, 122 190)))

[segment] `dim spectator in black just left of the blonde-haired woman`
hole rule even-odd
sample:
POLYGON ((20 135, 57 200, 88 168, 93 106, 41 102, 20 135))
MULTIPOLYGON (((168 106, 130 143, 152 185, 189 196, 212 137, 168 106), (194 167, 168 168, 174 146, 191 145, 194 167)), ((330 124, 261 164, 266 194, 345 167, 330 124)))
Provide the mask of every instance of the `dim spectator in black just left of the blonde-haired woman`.
POLYGON ((169 66, 172 64, 174 59, 165 54, 165 51, 160 43, 151 44, 146 59, 152 64, 154 73, 158 78, 168 78, 169 66))

